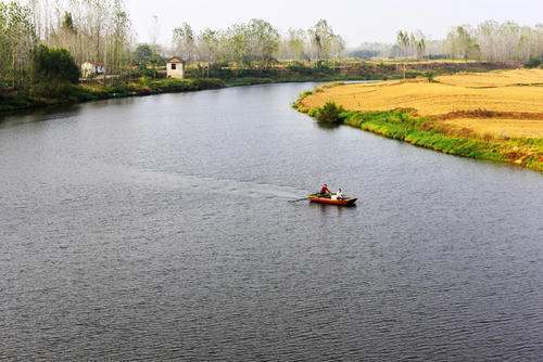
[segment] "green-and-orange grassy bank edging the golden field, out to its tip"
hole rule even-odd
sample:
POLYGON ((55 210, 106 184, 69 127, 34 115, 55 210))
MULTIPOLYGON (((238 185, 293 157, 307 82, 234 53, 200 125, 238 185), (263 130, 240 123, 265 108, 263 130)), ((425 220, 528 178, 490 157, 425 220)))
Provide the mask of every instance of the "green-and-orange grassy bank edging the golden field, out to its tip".
MULTIPOLYGON (((316 92, 326 92, 326 88, 317 89, 316 92)), ((304 100, 314 94, 315 91, 303 93, 294 104, 295 108, 317 119, 349 125, 451 155, 508 163, 543 171, 542 138, 481 134, 468 128, 451 127, 438 118, 420 116, 415 109, 349 111, 330 101, 320 107, 307 107, 304 100)))

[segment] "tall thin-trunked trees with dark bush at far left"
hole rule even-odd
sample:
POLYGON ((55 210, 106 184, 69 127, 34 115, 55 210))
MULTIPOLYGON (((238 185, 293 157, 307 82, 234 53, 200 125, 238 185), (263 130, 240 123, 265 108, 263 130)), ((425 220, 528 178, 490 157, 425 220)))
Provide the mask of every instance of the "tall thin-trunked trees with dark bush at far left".
POLYGON ((119 73, 134 37, 122 0, 0 2, 0 86, 33 92, 78 82, 79 66, 119 73))

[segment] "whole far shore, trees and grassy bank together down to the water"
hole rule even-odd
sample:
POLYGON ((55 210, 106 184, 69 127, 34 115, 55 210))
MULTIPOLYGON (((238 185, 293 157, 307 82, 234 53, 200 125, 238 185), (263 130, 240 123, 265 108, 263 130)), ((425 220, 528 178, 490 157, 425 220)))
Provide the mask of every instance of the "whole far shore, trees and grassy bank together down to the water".
POLYGON ((0 113, 230 86, 431 79, 541 64, 541 29, 510 22, 454 27, 441 40, 400 30, 395 43, 356 49, 346 49, 326 20, 288 31, 260 18, 220 29, 181 23, 164 47, 154 30, 148 43, 135 42, 122 0, 49 4, 0 2, 0 113), (516 38, 522 42, 512 43, 516 38), (166 64, 174 56, 182 63, 179 78, 185 79, 167 78, 166 64))

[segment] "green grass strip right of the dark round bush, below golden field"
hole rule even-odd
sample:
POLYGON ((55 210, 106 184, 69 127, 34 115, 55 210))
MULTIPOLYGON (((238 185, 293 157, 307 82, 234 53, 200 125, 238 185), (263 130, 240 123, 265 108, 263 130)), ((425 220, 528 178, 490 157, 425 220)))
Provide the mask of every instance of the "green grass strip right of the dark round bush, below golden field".
MULTIPOLYGON (((299 109, 313 117, 323 111, 319 108, 299 109)), ((344 125, 416 146, 456 156, 509 163, 543 171, 542 139, 483 139, 476 134, 447 133, 434 127, 432 120, 413 116, 403 109, 366 113, 346 111, 339 117, 344 125)))

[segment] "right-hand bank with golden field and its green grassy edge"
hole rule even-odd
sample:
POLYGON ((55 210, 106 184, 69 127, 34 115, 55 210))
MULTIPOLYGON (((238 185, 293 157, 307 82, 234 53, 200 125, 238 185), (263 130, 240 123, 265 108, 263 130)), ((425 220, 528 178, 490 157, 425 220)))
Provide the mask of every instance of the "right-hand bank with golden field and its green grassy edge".
POLYGON ((294 106, 447 154, 543 171, 543 69, 328 85, 294 106))

